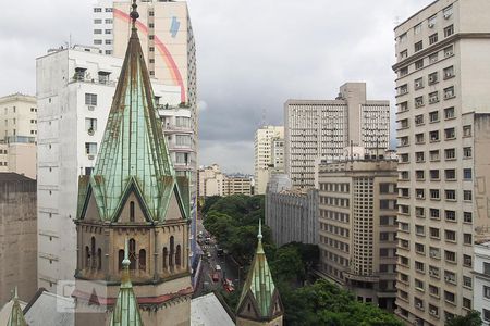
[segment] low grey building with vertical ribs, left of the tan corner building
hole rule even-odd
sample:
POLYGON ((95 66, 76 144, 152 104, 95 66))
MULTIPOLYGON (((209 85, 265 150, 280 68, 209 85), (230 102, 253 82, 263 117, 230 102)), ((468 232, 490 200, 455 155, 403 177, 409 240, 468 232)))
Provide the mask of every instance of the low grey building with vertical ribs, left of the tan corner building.
POLYGON ((271 177, 266 192, 266 224, 275 246, 293 241, 317 244, 318 190, 292 190, 279 177, 271 177))

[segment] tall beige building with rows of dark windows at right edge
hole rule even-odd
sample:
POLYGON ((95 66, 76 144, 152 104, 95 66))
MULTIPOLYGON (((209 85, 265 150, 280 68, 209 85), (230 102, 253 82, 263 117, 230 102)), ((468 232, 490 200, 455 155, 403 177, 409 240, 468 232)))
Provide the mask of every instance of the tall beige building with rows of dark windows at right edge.
POLYGON ((474 306, 473 243, 488 231, 489 15, 486 0, 439 0, 395 28, 396 305, 415 325, 474 306))

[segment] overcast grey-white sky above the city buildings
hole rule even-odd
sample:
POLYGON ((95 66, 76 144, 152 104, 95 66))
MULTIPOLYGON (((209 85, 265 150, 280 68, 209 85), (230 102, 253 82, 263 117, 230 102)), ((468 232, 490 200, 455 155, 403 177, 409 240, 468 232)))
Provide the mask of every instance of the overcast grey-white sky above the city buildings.
MULTIPOLYGON (((0 95, 34 95, 35 58, 70 35, 73 43, 90 43, 94 2, 3 5, 0 95)), ((289 98, 332 99, 343 83, 366 82, 369 99, 394 106, 393 28, 430 2, 188 0, 201 101, 199 164, 253 173, 264 112, 267 124, 282 124, 289 98)))

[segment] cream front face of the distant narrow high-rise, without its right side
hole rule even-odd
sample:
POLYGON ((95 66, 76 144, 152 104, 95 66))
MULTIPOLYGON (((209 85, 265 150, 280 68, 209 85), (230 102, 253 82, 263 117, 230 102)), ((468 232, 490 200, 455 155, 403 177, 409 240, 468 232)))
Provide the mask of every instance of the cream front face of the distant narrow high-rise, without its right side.
POLYGON ((284 138, 283 126, 264 126, 255 133, 255 193, 266 193, 272 161, 272 143, 274 139, 284 138))

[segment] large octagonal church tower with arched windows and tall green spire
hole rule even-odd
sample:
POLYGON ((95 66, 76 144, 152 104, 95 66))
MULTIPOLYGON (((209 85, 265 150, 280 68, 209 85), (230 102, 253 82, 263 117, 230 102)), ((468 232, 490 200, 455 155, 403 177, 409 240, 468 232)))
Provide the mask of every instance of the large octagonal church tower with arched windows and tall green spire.
POLYGON ((143 324, 191 324, 188 180, 175 176, 170 161, 135 27, 135 2, 97 162, 93 174, 79 179, 76 325, 111 323, 126 238, 143 324))

